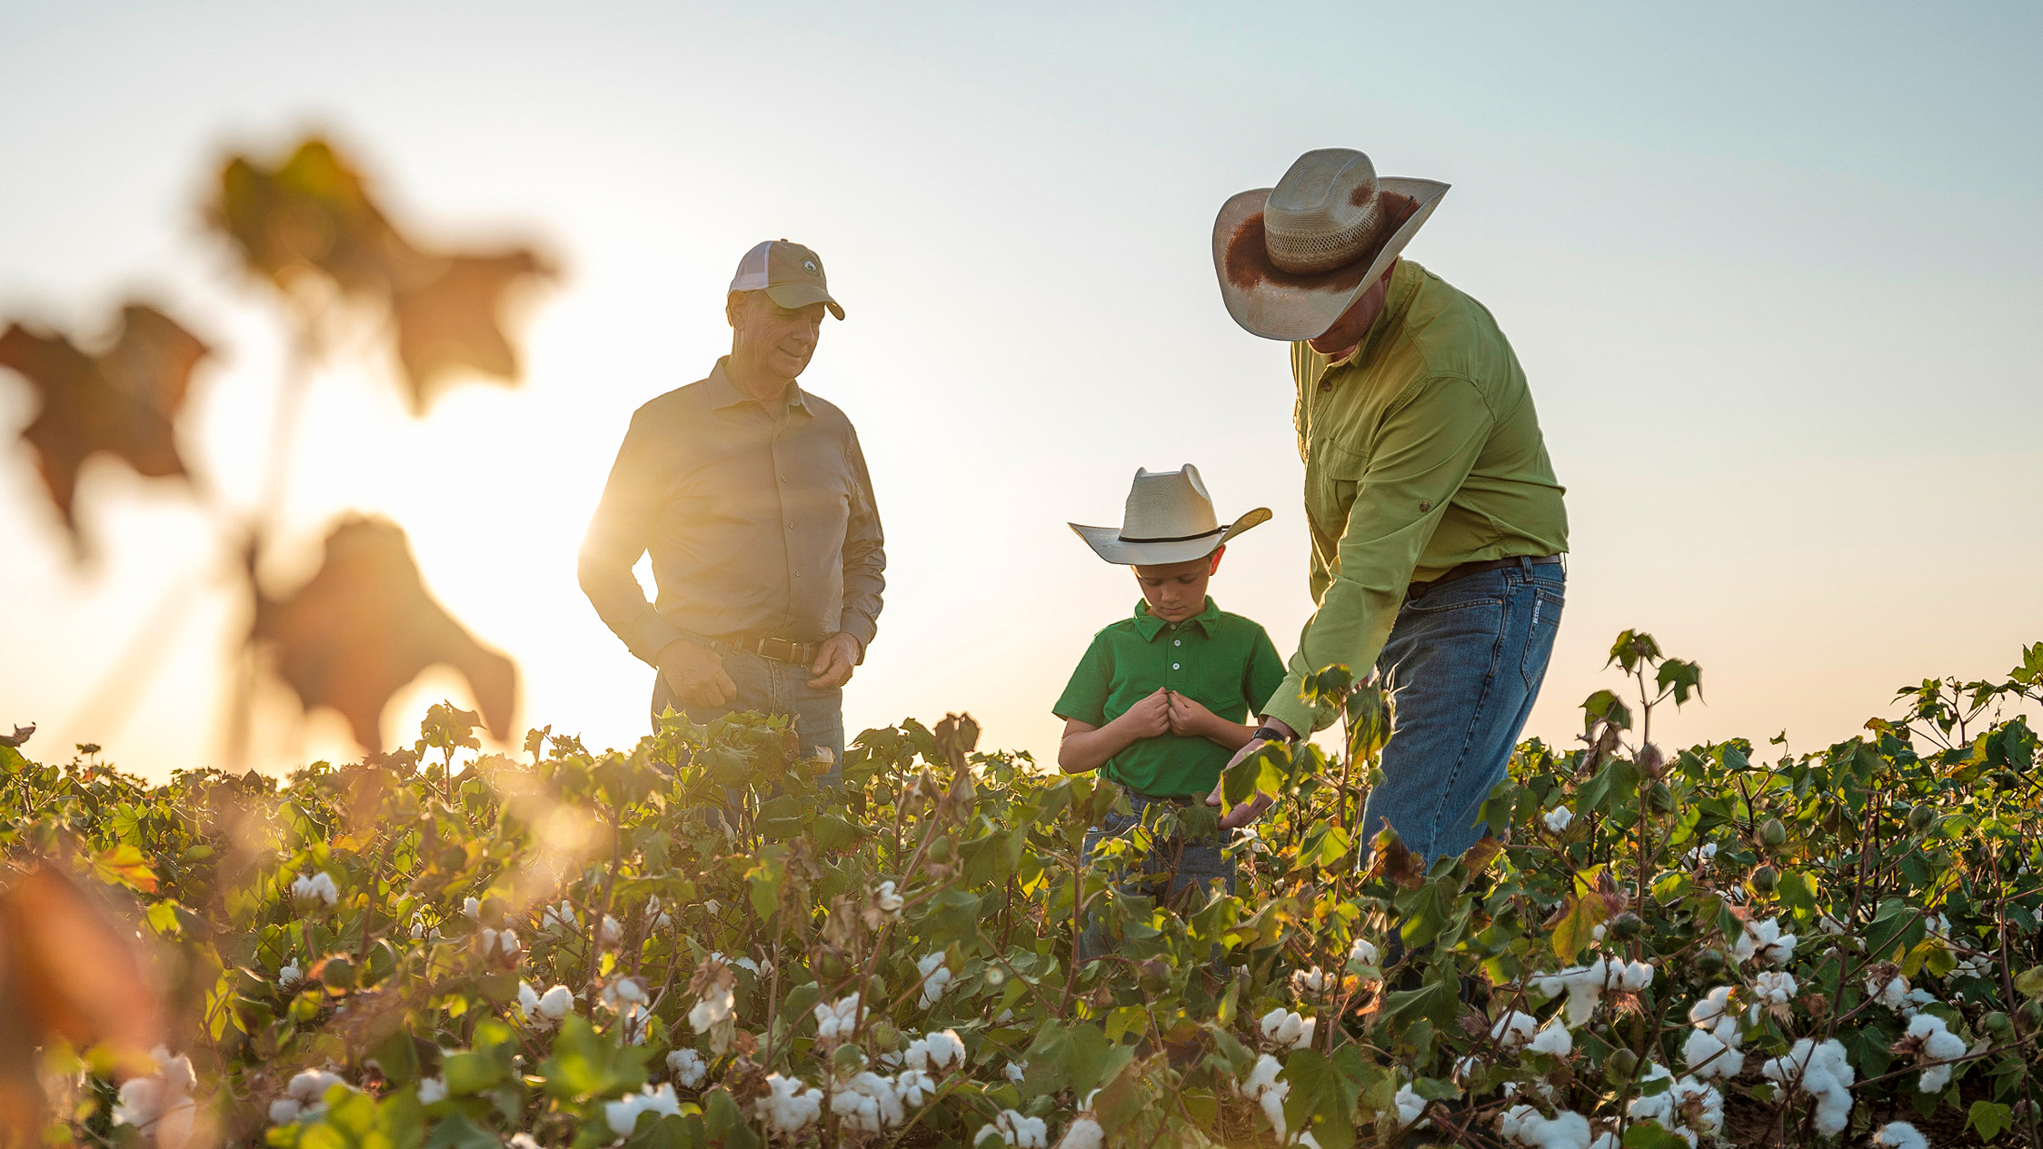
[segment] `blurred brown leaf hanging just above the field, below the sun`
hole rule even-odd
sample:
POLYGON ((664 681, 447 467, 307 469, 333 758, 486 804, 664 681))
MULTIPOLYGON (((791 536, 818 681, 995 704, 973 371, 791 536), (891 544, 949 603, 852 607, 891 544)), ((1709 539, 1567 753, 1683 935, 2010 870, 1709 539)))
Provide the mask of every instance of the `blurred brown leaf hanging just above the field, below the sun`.
POLYGON ((492 737, 511 733, 517 665, 433 602, 394 522, 343 518, 311 582, 284 600, 257 596, 253 637, 306 708, 333 706, 372 751, 390 696, 439 663, 468 680, 492 737))

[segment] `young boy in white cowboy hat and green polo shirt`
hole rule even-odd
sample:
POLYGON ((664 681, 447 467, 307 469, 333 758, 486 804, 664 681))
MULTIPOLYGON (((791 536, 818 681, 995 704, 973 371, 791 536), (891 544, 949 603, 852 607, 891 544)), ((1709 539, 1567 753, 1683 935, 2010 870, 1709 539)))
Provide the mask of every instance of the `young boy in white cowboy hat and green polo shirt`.
MULTIPOLYGON (((1105 837, 1140 825, 1150 806, 1203 802, 1254 733, 1244 720, 1283 684, 1283 659, 1263 627, 1220 610, 1205 594, 1226 543, 1269 516, 1258 506, 1222 527, 1199 471, 1185 463, 1177 471, 1138 469, 1120 529, 1071 524, 1101 559, 1134 567, 1142 588, 1134 616, 1093 635, 1056 700, 1064 718, 1056 763, 1064 773, 1103 767, 1134 806, 1085 835, 1087 857, 1105 837)), ((1193 882, 1234 892, 1226 837, 1150 847, 1146 869, 1169 871, 1169 902, 1189 898, 1193 882)), ((1081 955, 1105 949, 1103 931, 1089 927, 1081 955)))

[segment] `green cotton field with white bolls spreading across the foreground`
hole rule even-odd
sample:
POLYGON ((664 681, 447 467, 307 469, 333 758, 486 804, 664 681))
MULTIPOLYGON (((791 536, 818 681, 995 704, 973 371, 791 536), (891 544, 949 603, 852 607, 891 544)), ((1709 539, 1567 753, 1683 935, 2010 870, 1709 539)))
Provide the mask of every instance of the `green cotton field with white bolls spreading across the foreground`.
MULTIPOLYGON (((2043 825, 2008 708, 2037 700, 2037 647, 1771 763, 1665 755, 1655 708, 1700 669, 1641 633, 1612 665, 1632 700, 1591 696, 1579 749, 1524 743, 1461 859, 1357 825, 1391 700, 1314 676, 1342 749, 1226 773, 1230 806, 1275 798, 1228 845, 1234 896, 1124 878, 1216 810, 1085 863, 1118 790, 981 753, 956 716, 866 731, 842 790, 750 714, 605 753, 533 731, 509 759, 435 708, 413 753, 286 784, 8 749, 0 849, 139 902, 198 1102, 276 1149, 1032 1145, 1034 1120, 1054 1145, 1085 1116, 1115 1145, 1348 1149, 1563 1112, 1624 1147, 1808 1145, 1812 1094, 1765 1076, 1798 1039, 1845 1049, 1849 1137, 2033 1141, 2043 825), (1081 961, 1089 922, 1113 951, 1081 961), (1698 1029, 1712 990, 1728 1020, 1698 1029), (1704 1029, 1728 1078, 1690 1080, 1704 1029)), ((82 1065, 59 1133, 106 1141, 112 1067, 82 1065)))

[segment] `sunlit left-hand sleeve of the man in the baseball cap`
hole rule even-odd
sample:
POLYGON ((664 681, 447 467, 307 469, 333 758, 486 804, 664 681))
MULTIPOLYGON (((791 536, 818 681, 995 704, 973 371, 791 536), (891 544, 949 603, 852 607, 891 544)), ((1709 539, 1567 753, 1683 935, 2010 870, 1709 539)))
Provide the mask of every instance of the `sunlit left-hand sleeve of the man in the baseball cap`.
POLYGON ((680 639, 680 629, 660 616, 631 573, 652 543, 666 498, 662 451, 646 422, 644 410, 635 414, 623 447, 617 449, 603 500, 582 539, 576 573, 603 625, 623 639, 639 661, 660 665, 660 651, 680 639))

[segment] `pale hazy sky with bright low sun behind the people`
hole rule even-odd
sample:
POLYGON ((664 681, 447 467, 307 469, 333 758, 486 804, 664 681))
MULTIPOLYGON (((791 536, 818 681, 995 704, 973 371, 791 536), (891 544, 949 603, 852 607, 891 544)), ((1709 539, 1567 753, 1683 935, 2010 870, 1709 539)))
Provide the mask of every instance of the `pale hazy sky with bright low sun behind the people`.
MULTIPOLYGON (((323 131, 400 224, 539 239, 566 278, 523 329, 523 388, 411 420, 382 359, 315 382, 300 555, 266 573, 308 573, 339 510, 388 514, 517 657, 523 725, 629 745, 652 671, 574 549, 631 410, 727 349, 738 255, 807 243, 850 320, 803 386, 858 424, 891 563, 846 720, 968 708, 1052 757, 1064 676, 1136 600, 1064 522, 1115 522, 1138 465, 1197 463, 1224 518, 1277 512, 1214 594, 1295 645, 1285 347, 1228 320, 1207 235, 1299 151, 1359 147, 1453 184, 1408 255, 1498 316, 1569 488, 1528 733, 1579 731, 1610 639, 1643 627, 1704 665, 1667 737, 1814 749, 1902 682, 2043 639, 2037 45, 2033 4, 6 4, 0 316, 88 335, 159 300, 221 347, 186 455, 247 500, 282 349, 198 227, 229 149, 323 131)), ((215 761, 245 622, 208 522, 96 463, 102 557, 76 569, 29 416, 0 380, 0 722, 43 722, 43 757, 215 761), (94 698, 157 610, 133 704, 94 698)), ((441 696, 464 692, 415 684, 386 739, 441 696)), ((257 747, 353 753, 331 712, 284 708, 257 747)))

